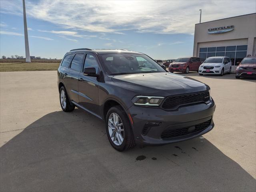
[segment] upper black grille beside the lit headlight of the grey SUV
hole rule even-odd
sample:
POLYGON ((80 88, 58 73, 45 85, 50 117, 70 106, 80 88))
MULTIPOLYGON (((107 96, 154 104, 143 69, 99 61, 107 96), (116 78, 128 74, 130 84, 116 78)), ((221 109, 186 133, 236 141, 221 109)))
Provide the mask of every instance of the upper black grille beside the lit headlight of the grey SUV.
POLYGON ((209 99, 210 99, 210 95, 208 91, 168 96, 164 100, 164 103, 162 104, 162 108, 165 110, 175 110, 180 105, 191 104, 195 102, 206 102, 209 99))

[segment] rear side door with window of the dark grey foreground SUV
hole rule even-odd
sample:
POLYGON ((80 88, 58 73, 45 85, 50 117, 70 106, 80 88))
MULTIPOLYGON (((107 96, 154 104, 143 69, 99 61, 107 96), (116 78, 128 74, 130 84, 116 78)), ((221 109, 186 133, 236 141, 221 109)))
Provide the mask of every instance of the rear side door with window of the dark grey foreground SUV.
POLYGON ((65 85, 70 100, 78 103, 78 77, 82 68, 84 54, 78 53, 73 57, 70 67, 66 70, 65 85))

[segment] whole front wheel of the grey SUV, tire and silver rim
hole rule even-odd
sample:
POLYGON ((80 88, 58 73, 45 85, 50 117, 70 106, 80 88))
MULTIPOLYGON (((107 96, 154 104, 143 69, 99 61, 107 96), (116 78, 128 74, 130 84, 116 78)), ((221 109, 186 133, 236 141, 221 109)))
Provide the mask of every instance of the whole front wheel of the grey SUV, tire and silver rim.
POLYGON ((135 146, 135 140, 130 121, 120 106, 114 106, 106 115, 106 132, 112 147, 125 151, 135 146))

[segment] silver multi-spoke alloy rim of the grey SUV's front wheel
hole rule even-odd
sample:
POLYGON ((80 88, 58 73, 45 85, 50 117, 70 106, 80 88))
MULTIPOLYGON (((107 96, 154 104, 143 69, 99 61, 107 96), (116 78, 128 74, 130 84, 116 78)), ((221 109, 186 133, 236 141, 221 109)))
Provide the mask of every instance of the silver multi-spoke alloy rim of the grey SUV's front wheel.
POLYGON ((108 118, 108 132, 115 145, 122 145, 124 141, 124 126, 120 116, 116 113, 110 114, 108 118))

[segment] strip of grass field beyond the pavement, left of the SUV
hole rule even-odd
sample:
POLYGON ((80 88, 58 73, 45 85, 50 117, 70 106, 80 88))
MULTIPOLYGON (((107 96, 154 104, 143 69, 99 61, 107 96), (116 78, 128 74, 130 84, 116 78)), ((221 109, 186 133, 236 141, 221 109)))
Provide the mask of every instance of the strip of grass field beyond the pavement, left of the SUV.
POLYGON ((31 63, 1 63, 0 72, 6 71, 54 71, 57 70, 60 65, 58 63, 47 62, 31 62, 31 63))

